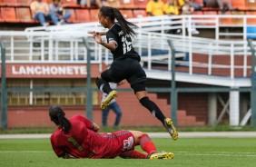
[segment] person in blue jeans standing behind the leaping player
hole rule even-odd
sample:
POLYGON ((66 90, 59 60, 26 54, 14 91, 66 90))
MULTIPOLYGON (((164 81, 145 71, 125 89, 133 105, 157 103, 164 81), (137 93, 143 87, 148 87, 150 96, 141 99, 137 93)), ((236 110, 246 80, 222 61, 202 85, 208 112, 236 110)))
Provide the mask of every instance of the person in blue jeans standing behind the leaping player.
MULTIPOLYGON (((117 87, 117 83, 109 83, 109 85, 113 90, 117 87)), ((103 93, 102 102, 105 100, 107 95, 107 93, 103 93)), ((110 101, 109 105, 105 109, 103 109, 103 127, 107 126, 107 117, 110 110, 113 110, 113 112, 116 114, 115 122, 113 123, 113 128, 117 128, 121 121, 122 111, 114 98, 112 99, 112 101, 110 101)))

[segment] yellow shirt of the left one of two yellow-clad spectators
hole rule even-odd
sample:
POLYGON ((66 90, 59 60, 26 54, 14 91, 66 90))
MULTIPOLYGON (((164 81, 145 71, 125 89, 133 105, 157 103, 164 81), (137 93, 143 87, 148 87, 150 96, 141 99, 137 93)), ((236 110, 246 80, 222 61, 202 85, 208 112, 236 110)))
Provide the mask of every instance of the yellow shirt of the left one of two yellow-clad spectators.
POLYGON ((146 12, 149 16, 163 15, 162 0, 150 0, 146 5, 146 12))

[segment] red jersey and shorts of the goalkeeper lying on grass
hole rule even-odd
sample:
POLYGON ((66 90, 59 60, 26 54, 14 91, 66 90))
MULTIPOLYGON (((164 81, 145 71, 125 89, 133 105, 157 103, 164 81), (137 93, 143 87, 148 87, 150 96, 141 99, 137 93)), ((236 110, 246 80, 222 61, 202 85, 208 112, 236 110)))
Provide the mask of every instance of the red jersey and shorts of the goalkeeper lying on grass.
POLYGON ((134 149, 134 136, 129 131, 95 133, 94 123, 82 115, 69 119, 72 128, 64 133, 58 128, 51 136, 57 156, 69 153, 76 158, 114 158, 134 149))

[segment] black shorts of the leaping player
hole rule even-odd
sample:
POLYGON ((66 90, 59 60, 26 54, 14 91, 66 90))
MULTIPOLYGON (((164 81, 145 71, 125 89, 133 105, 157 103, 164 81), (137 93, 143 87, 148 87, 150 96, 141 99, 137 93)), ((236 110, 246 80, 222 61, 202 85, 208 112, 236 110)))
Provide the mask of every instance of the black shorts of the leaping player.
POLYGON ((144 91, 146 74, 141 64, 133 58, 114 60, 110 68, 101 74, 106 82, 120 83, 124 79, 131 84, 134 92, 144 91))

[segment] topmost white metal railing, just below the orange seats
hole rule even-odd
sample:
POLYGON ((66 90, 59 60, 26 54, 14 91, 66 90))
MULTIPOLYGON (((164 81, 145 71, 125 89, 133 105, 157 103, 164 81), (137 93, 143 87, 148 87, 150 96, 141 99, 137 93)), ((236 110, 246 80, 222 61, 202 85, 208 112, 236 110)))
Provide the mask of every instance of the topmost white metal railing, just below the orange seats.
MULTIPOLYGON (((166 31, 181 28, 182 36, 192 36, 192 32, 186 34, 186 30, 191 28, 192 23, 199 29, 214 29, 215 39, 227 38, 231 36, 240 37, 243 40, 247 39, 247 35, 251 34, 247 32, 247 27, 256 26, 253 21, 255 15, 162 15, 162 16, 149 16, 128 19, 129 21, 138 25, 143 32, 158 31, 165 34, 166 31), (241 27, 241 32, 222 32, 223 27, 241 27)), ((86 31, 87 29, 96 30, 103 29, 98 22, 64 25, 64 26, 48 26, 48 27, 29 27, 26 28, 26 32, 36 31, 86 31)))

